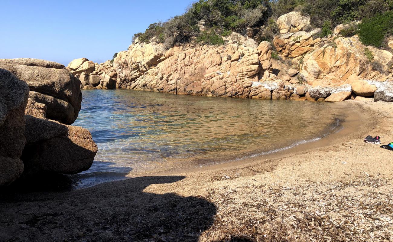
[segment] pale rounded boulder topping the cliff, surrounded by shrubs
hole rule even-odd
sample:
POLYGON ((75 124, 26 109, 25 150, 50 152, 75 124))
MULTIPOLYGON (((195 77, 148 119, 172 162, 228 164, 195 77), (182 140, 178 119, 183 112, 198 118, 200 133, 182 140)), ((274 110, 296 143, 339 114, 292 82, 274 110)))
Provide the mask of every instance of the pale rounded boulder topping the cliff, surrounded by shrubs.
POLYGON ((281 34, 307 30, 311 27, 310 17, 301 15, 301 12, 286 13, 277 19, 277 26, 281 34))

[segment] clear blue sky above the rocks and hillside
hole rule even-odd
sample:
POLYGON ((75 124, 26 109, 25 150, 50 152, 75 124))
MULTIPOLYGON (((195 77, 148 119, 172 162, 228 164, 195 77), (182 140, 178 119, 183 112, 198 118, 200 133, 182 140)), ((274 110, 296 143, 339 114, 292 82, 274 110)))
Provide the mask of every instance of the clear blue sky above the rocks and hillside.
POLYGON ((67 65, 126 50, 134 33, 184 13, 192 0, 0 0, 0 59, 67 65))

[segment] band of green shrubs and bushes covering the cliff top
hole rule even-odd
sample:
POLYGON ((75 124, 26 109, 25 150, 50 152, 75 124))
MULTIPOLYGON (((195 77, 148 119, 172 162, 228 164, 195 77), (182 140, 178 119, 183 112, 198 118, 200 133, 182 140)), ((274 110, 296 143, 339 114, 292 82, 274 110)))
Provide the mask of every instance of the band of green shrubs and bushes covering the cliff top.
POLYGON ((338 24, 362 20, 359 26, 342 30, 344 36, 359 34, 364 44, 377 47, 391 34, 393 0, 199 0, 185 13, 166 22, 151 24, 144 33, 136 33, 141 42, 155 38, 167 48, 187 42, 222 44, 232 31, 248 35, 257 42, 271 41, 278 28, 275 20, 290 11, 310 16, 312 27, 322 28, 328 36, 338 24))

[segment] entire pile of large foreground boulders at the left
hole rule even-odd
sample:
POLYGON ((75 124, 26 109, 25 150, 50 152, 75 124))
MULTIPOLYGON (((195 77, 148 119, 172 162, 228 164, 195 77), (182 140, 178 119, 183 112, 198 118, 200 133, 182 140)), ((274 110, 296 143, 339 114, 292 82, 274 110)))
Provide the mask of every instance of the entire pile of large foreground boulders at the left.
POLYGON ((55 62, 0 59, 0 185, 20 175, 90 168, 90 132, 69 126, 81 109, 80 81, 55 62))

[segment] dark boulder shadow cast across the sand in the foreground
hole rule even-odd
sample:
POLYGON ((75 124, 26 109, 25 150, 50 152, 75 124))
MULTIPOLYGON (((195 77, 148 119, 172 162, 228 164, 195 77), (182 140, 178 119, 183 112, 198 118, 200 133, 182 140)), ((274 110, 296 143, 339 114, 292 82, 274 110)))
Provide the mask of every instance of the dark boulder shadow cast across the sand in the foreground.
POLYGON ((71 192, 14 192, 12 200, 2 193, 0 241, 196 242, 213 224, 212 203, 165 193, 165 187, 163 194, 143 191, 182 179, 136 177, 71 192))

